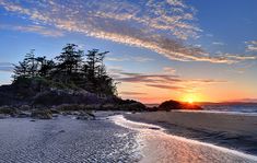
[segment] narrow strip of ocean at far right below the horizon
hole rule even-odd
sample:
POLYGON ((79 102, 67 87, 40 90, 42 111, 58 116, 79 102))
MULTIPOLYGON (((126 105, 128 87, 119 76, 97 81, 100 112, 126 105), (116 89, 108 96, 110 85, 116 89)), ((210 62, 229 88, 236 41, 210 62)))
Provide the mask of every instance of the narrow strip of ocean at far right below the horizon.
POLYGON ((205 110, 233 112, 233 113, 257 113, 257 104, 201 104, 205 110))

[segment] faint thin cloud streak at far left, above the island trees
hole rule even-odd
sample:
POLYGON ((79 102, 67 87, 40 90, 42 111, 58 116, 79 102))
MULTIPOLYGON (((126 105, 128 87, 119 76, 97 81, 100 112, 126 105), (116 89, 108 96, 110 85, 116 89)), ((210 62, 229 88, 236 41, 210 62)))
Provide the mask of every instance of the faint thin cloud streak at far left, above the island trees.
POLYGON ((4 30, 15 30, 21 32, 32 32, 42 34, 44 36, 50 36, 50 37, 60 37, 63 36, 63 32, 59 30, 52 30, 49 27, 40 26, 40 25, 27 25, 27 26, 21 26, 21 25, 0 25, 0 28, 4 30))

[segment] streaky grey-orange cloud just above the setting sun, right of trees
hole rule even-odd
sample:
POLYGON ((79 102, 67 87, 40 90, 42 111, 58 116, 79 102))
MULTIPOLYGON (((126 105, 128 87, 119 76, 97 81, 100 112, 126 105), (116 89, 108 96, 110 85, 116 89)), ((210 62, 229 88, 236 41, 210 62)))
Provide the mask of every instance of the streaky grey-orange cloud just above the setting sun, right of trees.
POLYGON ((109 71, 116 81, 122 83, 133 83, 150 88, 164 89, 177 92, 196 92, 197 88, 218 83, 226 83, 223 80, 213 79, 184 79, 171 73, 132 73, 120 68, 109 71), (197 85, 197 88, 196 88, 197 85))

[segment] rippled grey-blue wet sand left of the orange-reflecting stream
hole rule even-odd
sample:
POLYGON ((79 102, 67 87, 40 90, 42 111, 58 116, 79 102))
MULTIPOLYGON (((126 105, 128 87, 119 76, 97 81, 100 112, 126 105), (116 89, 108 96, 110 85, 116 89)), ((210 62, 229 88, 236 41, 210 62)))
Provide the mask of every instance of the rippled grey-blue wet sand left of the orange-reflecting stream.
POLYGON ((137 162, 136 135, 104 118, 0 119, 0 163, 137 162))

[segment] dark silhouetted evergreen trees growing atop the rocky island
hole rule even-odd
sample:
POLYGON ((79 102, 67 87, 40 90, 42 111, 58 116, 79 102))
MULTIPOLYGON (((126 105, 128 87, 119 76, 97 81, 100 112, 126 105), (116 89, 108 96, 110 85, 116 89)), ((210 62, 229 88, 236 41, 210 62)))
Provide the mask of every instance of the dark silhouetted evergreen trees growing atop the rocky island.
POLYGON ((36 57, 35 50, 25 55, 24 59, 14 67, 14 81, 21 79, 42 78, 49 82, 57 82, 72 89, 116 95, 116 83, 106 72, 105 55, 98 49, 87 53, 81 50, 75 44, 67 44, 55 59, 45 56, 36 57))

